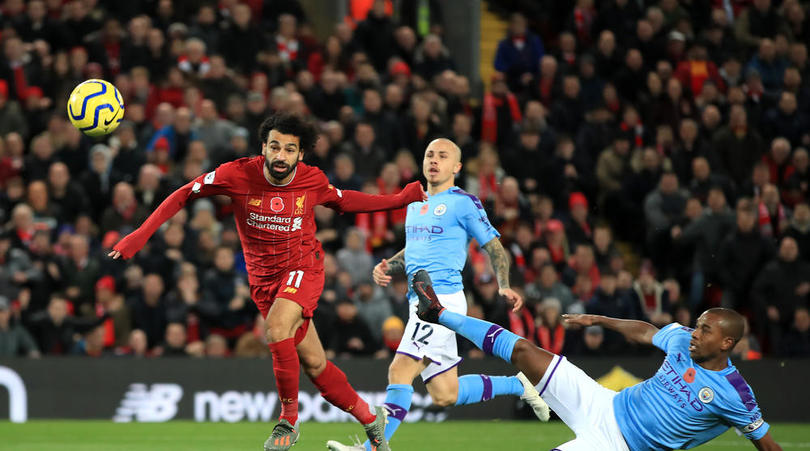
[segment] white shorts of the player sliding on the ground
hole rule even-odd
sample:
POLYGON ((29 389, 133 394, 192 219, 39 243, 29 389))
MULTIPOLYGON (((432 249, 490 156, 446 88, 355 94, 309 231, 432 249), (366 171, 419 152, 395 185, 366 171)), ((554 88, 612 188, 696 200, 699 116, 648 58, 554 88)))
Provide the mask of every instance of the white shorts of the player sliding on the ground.
POLYGON ((577 435, 555 450, 629 451, 613 413, 615 391, 599 385, 558 355, 536 387, 549 407, 577 435))

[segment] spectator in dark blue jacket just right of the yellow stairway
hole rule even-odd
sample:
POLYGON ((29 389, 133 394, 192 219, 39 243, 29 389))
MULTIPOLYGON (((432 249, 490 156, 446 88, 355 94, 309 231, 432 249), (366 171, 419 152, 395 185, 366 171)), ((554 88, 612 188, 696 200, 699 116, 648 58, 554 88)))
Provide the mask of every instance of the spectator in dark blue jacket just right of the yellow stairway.
POLYGON ((528 30, 526 17, 513 13, 507 36, 498 43, 495 70, 506 75, 506 83, 513 91, 521 91, 539 73, 544 53, 543 41, 528 30))

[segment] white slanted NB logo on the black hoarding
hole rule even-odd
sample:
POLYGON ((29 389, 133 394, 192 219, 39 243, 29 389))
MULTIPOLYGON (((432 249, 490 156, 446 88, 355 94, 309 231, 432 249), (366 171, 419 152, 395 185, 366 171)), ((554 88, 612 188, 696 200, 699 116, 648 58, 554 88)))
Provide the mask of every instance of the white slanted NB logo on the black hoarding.
POLYGON ((183 397, 183 388, 177 384, 132 384, 116 409, 113 421, 160 423, 177 415, 177 403, 183 397))

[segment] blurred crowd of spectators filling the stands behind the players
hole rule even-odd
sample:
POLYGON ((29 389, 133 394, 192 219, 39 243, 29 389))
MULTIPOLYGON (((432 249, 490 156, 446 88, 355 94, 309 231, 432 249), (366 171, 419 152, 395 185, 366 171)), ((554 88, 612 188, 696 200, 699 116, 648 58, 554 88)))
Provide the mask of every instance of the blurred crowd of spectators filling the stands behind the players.
MULTIPOLYGON (((304 161, 342 189, 396 193, 430 140, 461 147, 457 184, 528 301, 512 313, 473 246, 471 316, 604 355, 640 351, 560 314, 690 325, 722 305, 749 318, 740 358, 810 356, 807 3, 490 3, 526 14, 474 96, 435 0, 374 1, 323 41, 295 0, 3 1, 0 356, 268 355, 227 199, 193 202, 131 261, 106 254, 175 188, 258 154, 274 111, 317 123, 304 161), (89 78, 125 99, 103 141, 64 113, 89 78)), ((404 219, 317 210, 331 356, 389 356, 402 338, 407 282, 371 272, 404 219)))

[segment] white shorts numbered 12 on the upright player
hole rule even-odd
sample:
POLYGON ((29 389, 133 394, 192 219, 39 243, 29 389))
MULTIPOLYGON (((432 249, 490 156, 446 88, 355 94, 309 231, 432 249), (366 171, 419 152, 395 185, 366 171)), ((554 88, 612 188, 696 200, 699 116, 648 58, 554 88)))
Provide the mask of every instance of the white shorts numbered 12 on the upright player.
MULTIPOLYGON (((437 296, 447 310, 467 314, 467 298, 463 291, 437 296)), ((462 358, 458 355, 456 333, 440 324, 419 319, 416 316, 417 302, 411 301, 408 324, 405 325, 405 333, 397 348, 397 354, 404 354, 420 361, 428 358, 431 363, 422 371, 422 380, 428 382, 434 376, 458 366, 462 358)))

